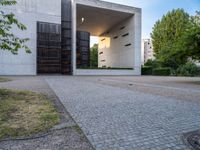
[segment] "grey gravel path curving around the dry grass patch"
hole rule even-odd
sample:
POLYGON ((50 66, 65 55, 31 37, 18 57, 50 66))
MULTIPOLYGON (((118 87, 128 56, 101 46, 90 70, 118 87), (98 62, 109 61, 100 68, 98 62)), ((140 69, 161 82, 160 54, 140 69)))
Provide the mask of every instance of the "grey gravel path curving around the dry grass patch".
POLYGON ((48 95, 60 113, 60 124, 48 133, 18 140, 0 141, 0 150, 93 150, 92 145, 59 101, 43 76, 7 77, 11 82, 0 83, 0 88, 30 90, 48 95))

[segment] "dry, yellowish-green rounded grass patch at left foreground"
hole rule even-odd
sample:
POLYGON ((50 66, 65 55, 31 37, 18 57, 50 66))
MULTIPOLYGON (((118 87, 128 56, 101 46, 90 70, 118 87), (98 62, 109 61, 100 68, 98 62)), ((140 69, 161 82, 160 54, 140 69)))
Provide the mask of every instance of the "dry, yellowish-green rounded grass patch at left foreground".
POLYGON ((0 89, 0 139, 30 136, 59 123, 59 114, 43 94, 0 89))

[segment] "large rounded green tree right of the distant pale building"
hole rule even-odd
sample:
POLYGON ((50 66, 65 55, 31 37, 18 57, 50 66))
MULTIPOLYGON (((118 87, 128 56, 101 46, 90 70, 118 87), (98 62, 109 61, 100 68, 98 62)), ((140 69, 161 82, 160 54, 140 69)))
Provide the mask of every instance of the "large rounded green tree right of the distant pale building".
POLYGON ((158 20, 151 33, 156 59, 163 66, 176 69, 187 62, 187 56, 180 46, 183 33, 190 22, 189 14, 183 9, 174 9, 158 20))

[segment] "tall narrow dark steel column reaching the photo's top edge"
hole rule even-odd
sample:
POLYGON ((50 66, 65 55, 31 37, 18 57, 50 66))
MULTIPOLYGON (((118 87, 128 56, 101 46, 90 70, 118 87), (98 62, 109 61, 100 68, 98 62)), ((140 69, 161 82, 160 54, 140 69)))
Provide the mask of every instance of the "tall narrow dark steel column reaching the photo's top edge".
POLYGON ((71 0, 62 0, 61 7, 61 72, 72 74, 72 9, 71 0))

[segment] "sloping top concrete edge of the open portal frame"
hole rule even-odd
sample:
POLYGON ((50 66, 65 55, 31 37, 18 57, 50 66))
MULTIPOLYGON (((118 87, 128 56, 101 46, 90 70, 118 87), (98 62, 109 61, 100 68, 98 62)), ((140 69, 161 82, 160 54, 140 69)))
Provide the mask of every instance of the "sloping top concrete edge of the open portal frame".
POLYGON ((97 7, 97 8, 104 8, 104 9, 110 9, 115 11, 121 11, 126 13, 141 13, 142 9, 117 3, 111 3, 101 0, 74 0, 76 4, 91 6, 91 7, 97 7))

